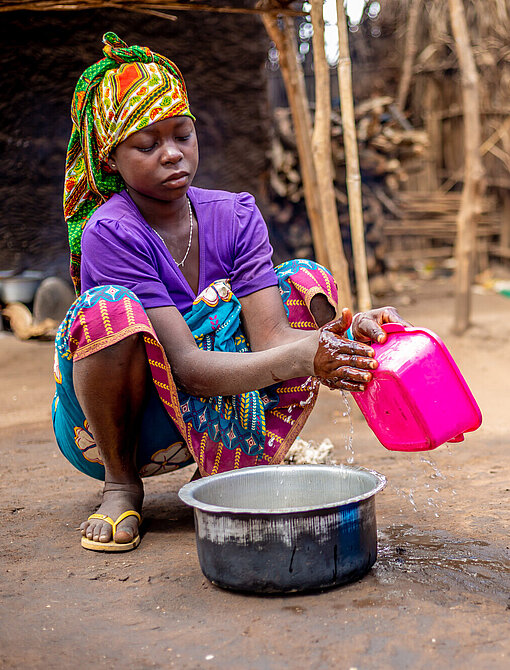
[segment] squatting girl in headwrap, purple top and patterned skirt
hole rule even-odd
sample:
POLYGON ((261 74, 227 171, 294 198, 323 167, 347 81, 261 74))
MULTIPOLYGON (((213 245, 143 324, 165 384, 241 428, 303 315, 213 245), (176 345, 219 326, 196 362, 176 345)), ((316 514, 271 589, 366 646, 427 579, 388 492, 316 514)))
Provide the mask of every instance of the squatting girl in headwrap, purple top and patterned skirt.
POLYGON ((362 390, 393 308, 334 321, 324 268, 273 268, 247 193, 193 187, 194 117, 177 67, 107 33, 72 105, 64 213, 78 299, 56 340, 62 453, 104 480, 82 545, 140 541, 142 477, 280 463, 319 380, 362 390), (327 324, 327 325, 326 325, 327 324), (358 340, 358 341, 356 341, 358 340), (359 341, 361 340, 361 341, 359 341))

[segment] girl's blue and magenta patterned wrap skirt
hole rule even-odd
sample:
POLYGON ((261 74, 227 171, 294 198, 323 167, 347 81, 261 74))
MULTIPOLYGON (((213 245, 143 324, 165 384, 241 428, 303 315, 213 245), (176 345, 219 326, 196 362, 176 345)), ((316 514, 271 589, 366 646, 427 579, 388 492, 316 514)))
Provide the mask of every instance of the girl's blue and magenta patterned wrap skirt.
MULTIPOLYGON (((288 261, 276 273, 293 328, 317 327, 310 312, 317 294, 325 295, 336 309, 336 285, 322 266, 288 261)), ((228 280, 221 280, 197 296, 184 319, 199 348, 243 353, 249 352, 249 343, 241 330, 240 312, 228 280)), ((136 295, 122 286, 99 286, 74 302, 55 341, 53 427, 61 452, 78 470, 104 480, 101 454, 74 391, 73 363, 133 334, 143 337, 153 381, 136 451, 142 477, 193 462, 205 476, 283 461, 313 409, 316 379, 292 379, 229 397, 186 394, 177 388, 164 349, 136 295)))

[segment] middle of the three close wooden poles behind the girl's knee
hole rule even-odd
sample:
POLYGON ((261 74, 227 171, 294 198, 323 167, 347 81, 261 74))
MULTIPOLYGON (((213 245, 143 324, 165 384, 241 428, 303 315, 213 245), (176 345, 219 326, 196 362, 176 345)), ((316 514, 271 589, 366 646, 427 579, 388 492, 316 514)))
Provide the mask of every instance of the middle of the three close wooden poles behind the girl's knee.
POLYGON ((338 221, 331 155, 331 86, 324 49, 323 0, 312 0, 313 62, 315 69, 315 124, 312 151, 319 187, 324 240, 329 268, 338 286, 342 305, 352 306, 349 269, 345 259, 338 221))

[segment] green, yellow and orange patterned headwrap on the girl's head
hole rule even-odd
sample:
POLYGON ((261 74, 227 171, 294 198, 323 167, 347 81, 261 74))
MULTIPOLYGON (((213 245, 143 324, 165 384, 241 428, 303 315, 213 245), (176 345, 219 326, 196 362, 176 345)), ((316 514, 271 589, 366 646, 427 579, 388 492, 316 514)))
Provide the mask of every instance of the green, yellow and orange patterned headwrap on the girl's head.
POLYGON ((82 230, 97 207, 124 188, 122 178, 108 167, 111 150, 156 121, 195 119, 182 74, 171 60, 147 47, 128 47, 115 33, 106 33, 103 42, 105 57, 81 75, 71 106, 64 218, 78 295, 82 230))

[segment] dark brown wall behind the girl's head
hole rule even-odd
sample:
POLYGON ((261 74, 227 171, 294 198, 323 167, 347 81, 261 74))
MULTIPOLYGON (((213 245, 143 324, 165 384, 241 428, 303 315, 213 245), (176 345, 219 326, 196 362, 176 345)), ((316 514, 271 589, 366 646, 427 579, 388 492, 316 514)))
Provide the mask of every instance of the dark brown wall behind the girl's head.
POLYGON ((0 270, 67 273, 61 201, 77 77, 117 32, 176 61, 200 140, 199 186, 260 193, 268 121, 267 36, 256 16, 179 12, 175 22, 113 10, 12 12, 0 22, 0 270))

